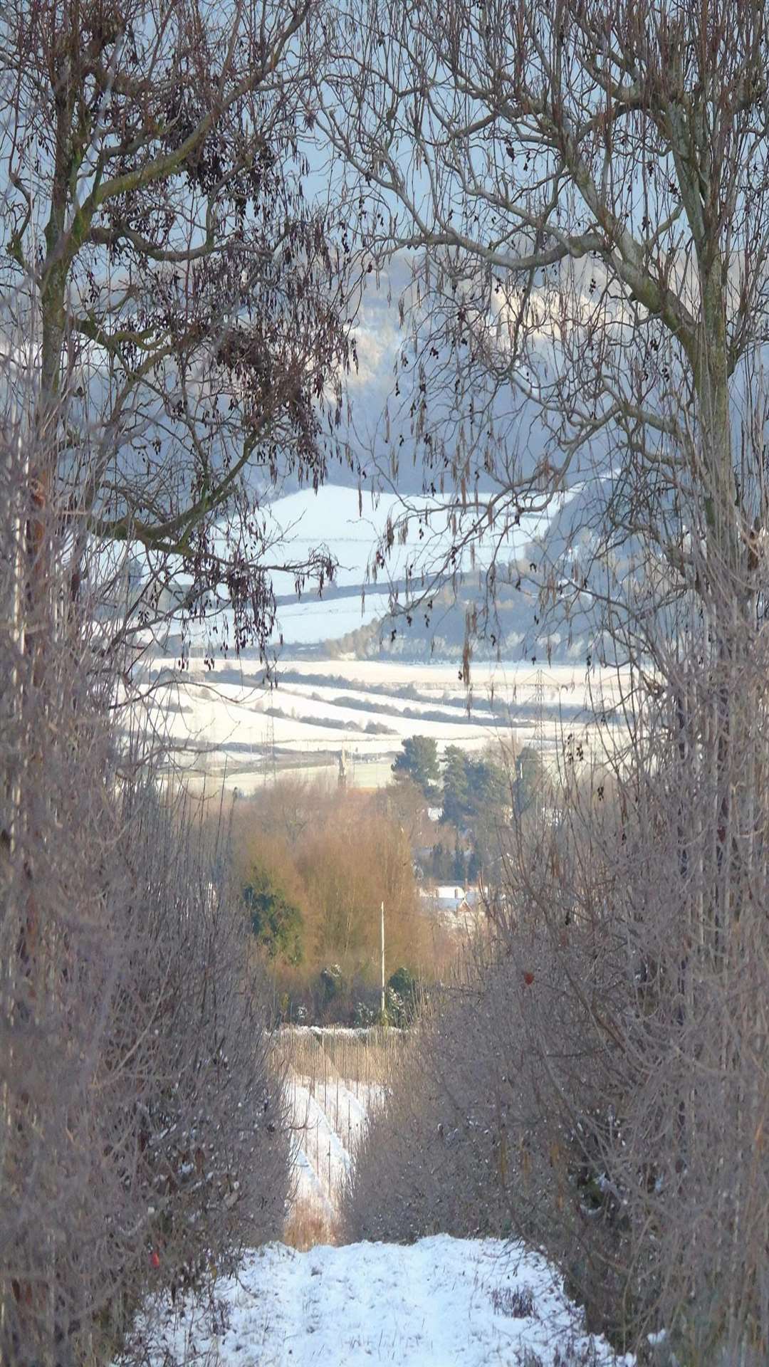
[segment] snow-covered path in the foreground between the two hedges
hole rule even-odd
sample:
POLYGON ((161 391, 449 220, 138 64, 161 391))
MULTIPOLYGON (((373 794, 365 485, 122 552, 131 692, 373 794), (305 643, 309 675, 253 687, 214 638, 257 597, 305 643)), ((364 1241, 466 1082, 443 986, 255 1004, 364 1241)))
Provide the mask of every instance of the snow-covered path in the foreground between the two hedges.
POLYGON ((584 1334, 542 1258, 497 1240, 438 1234, 307 1254, 272 1244, 218 1282, 216 1300, 216 1333, 209 1316, 168 1311, 152 1334, 153 1364, 185 1362, 190 1345, 207 1367, 631 1364, 584 1334))

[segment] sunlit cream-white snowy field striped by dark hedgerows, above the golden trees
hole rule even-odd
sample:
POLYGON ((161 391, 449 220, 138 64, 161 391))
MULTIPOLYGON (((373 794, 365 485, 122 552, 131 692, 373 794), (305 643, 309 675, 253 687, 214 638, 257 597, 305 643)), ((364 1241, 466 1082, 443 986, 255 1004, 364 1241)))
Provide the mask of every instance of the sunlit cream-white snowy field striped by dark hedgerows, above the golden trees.
POLYGON ((453 664, 285 659, 268 688, 256 663, 179 670, 157 658, 146 685, 192 782, 248 794, 286 770, 335 781, 342 755, 350 786, 379 787, 415 734, 434 738, 439 753, 542 744, 556 761, 571 737, 575 753, 601 755, 621 735, 628 679, 576 666, 478 664, 468 693, 453 664))

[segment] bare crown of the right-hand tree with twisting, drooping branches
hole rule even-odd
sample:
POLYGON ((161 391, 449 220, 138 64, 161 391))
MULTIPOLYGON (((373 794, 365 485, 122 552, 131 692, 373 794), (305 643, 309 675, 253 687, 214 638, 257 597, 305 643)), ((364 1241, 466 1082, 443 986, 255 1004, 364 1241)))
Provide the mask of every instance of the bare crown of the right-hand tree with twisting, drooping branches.
MULTIPOLYGON (((703 588, 716 555, 751 617, 766 524, 764 7, 350 0, 328 34, 319 118, 359 176, 361 238, 379 261, 416 253, 395 395, 430 511, 406 500, 401 522, 453 536, 426 536, 412 601, 483 539, 488 606, 530 571, 505 563, 510 529, 571 496, 532 560, 543 606, 625 612, 643 570, 658 607, 703 588)), ((393 478, 402 446, 401 425, 393 478)))

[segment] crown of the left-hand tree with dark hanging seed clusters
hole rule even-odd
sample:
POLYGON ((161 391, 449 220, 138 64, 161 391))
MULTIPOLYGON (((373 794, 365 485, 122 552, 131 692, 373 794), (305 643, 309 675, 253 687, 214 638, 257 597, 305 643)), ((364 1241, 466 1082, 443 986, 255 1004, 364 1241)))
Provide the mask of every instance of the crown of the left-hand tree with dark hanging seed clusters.
MULTIPOLYGON (((73 536, 141 554, 145 621, 226 601, 265 648, 264 496, 320 483, 352 360, 337 217, 305 191, 317 0, 19 0, 0 21, 5 349, 26 340, 47 468, 73 536)), ((134 593, 134 599, 138 593, 134 593)))

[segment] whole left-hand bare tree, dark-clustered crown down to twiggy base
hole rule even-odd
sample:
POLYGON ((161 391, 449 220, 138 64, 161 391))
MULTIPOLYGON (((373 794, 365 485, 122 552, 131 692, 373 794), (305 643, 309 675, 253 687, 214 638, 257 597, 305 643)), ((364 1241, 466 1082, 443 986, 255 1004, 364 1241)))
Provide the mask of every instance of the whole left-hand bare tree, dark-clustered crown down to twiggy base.
POLYGON ((323 478, 352 358, 345 253, 302 197, 315 11, 0 18, 0 1356, 19 1364, 103 1360, 148 1289, 194 1286, 283 1214, 226 833, 207 843, 161 798, 155 742, 114 722, 130 632, 174 577, 175 611, 223 599, 230 644, 265 649, 278 560, 330 571, 323 550, 271 556, 261 509, 282 472, 323 478))

